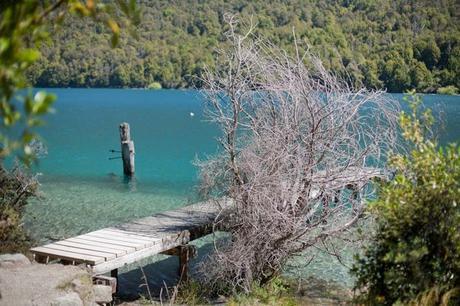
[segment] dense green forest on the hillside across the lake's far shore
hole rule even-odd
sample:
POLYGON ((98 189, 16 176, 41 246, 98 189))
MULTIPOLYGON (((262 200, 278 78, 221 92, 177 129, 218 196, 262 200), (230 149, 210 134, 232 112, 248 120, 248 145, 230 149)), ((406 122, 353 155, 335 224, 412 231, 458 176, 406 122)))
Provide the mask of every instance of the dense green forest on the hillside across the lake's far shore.
POLYGON ((29 71, 39 87, 200 86, 214 65, 227 12, 253 16, 260 33, 293 51, 293 35, 351 83, 402 92, 460 88, 457 0, 139 1, 137 35, 117 48, 99 24, 77 18, 53 27, 43 58, 29 71))

